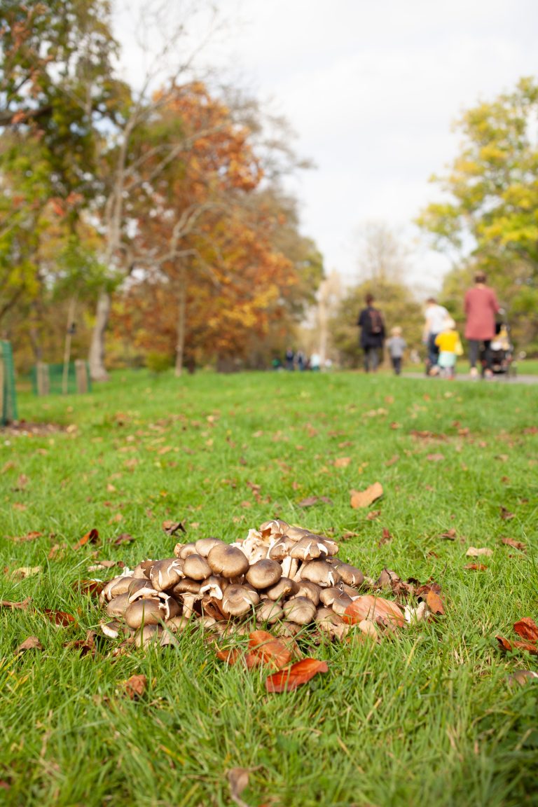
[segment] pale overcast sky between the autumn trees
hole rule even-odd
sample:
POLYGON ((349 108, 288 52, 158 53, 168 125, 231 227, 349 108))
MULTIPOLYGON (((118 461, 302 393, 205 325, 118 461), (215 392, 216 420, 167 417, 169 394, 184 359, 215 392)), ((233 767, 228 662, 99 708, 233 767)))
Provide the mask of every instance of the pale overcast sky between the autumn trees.
MULTIPOLYGON (((131 10, 141 0, 131 0, 131 10)), ((177 7, 182 0, 173 0, 177 7)), ((457 153, 462 110, 538 73, 538 0, 215 0, 223 64, 289 120, 316 168, 294 182, 302 232, 327 270, 357 278, 357 228, 382 221, 415 245, 410 282, 434 291, 448 261, 412 220, 457 153)), ((130 15, 132 22, 134 15, 130 15)), ((127 75, 140 56, 119 15, 127 75)), ((138 61, 137 61, 138 60, 138 61)))

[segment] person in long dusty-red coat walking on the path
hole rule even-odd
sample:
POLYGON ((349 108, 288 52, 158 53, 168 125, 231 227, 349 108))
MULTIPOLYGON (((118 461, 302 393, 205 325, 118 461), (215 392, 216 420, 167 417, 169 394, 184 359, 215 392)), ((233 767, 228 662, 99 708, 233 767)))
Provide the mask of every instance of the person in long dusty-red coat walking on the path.
POLYGON ((495 314, 500 311, 497 297, 490 286, 486 286, 486 274, 482 271, 474 275, 474 286, 465 292, 465 339, 469 342, 469 365, 471 378, 478 378, 478 355, 480 345, 484 345, 486 378, 493 376, 491 369, 491 340, 495 336, 495 314))

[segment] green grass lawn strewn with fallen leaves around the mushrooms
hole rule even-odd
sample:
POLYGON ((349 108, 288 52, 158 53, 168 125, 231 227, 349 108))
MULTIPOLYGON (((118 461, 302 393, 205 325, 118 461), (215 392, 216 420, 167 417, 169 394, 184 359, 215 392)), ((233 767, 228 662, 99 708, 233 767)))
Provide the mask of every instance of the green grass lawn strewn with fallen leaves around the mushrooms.
POLYGON ((248 805, 538 804, 538 687, 507 684, 536 656, 502 655, 494 639, 538 620, 537 399, 512 384, 144 370, 81 397, 20 394, 20 418, 63 428, 0 433, 2 599, 31 597, 0 610, 2 804, 230 805, 232 767, 252 769, 248 805), (349 491, 375 481, 385 495, 369 521, 349 491), (302 508, 312 495, 332 504, 302 508), (379 645, 313 647, 327 674, 281 695, 265 692, 265 671, 217 661, 197 631, 159 654, 65 646, 101 616, 73 588, 95 576, 95 555, 169 556, 165 519, 185 519, 190 539, 231 541, 273 516, 336 540, 358 533, 340 557, 373 577, 436 579, 445 616, 379 645), (91 528, 100 544, 74 549, 91 528), (42 535, 13 540, 31 530, 42 535), (115 546, 120 533, 135 540, 115 546), (465 570, 469 546, 493 550, 478 558, 486 571, 465 570), (56 627, 45 608, 77 622, 56 627), (31 635, 44 651, 15 655, 31 635), (136 673, 148 691, 127 700, 136 673))

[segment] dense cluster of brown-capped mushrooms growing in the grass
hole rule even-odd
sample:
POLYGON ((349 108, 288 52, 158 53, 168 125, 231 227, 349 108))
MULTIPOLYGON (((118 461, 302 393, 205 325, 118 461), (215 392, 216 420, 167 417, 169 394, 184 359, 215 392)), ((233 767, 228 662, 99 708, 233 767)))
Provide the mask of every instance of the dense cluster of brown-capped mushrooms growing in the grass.
POLYGON ((216 537, 178 543, 173 558, 144 560, 106 583, 101 601, 110 620, 102 631, 138 646, 165 646, 196 619, 220 634, 256 621, 277 635, 316 625, 342 638, 343 614, 361 596, 365 577, 337 552, 331 538, 280 520, 232 544, 216 537))

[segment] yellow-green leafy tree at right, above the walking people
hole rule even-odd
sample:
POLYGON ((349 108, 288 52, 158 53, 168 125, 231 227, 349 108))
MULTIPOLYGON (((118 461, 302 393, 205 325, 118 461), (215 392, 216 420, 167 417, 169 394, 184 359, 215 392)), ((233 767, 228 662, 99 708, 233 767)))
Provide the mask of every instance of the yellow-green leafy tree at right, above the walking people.
POLYGON ((473 270, 486 270, 525 340, 538 332, 537 115, 533 78, 465 111, 461 151, 447 174, 432 178, 445 199, 418 220, 453 256, 457 274, 470 280, 473 270))

